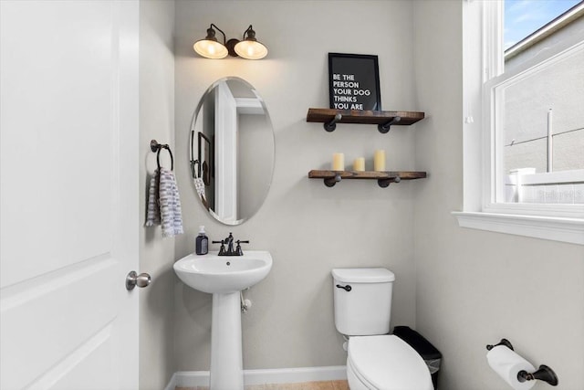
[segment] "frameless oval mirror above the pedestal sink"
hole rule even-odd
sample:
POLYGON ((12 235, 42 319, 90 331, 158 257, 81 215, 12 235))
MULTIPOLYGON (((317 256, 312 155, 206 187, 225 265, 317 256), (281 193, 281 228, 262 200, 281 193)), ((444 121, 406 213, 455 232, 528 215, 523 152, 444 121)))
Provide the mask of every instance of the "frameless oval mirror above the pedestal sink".
POLYGON ((191 123, 191 174, 203 206, 239 225, 266 199, 274 171, 274 131, 264 100, 244 79, 215 81, 191 123))

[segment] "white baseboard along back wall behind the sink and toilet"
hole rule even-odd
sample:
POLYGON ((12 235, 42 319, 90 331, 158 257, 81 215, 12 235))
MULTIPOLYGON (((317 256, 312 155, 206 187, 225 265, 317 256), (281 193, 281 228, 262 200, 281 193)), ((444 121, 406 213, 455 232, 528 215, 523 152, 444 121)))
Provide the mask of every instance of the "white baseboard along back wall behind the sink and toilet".
MULTIPOLYGON (((245 385, 294 384, 342 379, 347 379, 347 367, 344 365, 244 370, 245 385)), ((207 385, 209 385, 208 371, 178 371, 172 374, 171 381, 164 390, 174 390, 175 386, 194 387, 207 385)))

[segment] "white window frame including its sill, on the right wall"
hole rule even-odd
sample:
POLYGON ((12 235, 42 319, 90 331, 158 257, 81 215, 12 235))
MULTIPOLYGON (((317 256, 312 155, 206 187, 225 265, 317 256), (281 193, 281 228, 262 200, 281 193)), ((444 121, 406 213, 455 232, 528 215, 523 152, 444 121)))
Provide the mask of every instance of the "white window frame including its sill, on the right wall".
POLYGON ((503 2, 467 1, 463 6, 464 207, 453 213, 459 226, 584 245, 584 205, 496 202, 495 166, 503 153, 496 153, 494 126, 495 87, 558 58, 569 47, 584 46, 584 29, 504 72, 503 2), (476 60, 469 53, 480 56, 480 71, 471 69, 476 60), (474 111, 469 109, 473 106, 474 111))

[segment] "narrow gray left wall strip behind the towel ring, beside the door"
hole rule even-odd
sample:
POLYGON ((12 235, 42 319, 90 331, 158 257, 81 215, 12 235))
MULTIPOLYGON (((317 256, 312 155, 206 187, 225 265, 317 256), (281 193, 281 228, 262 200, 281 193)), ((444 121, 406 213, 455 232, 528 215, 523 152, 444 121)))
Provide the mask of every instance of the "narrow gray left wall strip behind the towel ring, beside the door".
MULTIPOLYGON (((145 220, 150 175, 156 169, 151 139, 170 143, 174 132, 174 3, 140 2, 140 208, 145 220)), ((172 147, 174 151, 174 148, 172 147)), ((161 163, 170 167, 165 151, 161 163)), ((185 191, 183 190, 181 195, 185 191)), ((174 240, 160 227, 140 227, 140 270, 152 277, 140 294, 140 388, 160 390, 175 371, 173 345, 174 240)))

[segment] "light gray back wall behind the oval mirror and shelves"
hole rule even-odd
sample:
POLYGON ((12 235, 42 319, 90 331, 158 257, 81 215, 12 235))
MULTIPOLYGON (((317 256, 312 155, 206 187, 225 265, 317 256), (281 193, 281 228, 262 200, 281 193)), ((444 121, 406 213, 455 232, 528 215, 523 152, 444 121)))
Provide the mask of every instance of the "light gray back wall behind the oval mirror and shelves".
MULTIPOLYGON (((325 132, 307 123, 309 107, 328 107, 328 52, 377 54, 385 110, 419 111, 412 72, 412 4, 408 1, 177 1, 175 124, 176 171, 187 234, 176 240, 176 258, 193 251, 205 225, 211 239, 251 240, 249 248, 274 257, 270 275, 247 292, 254 306, 243 318, 244 366, 277 368, 345 364, 342 337, 333 322, 330 269, 383 266, 396 273, 394 324, 414 325, 415 277, 412 213, 422 181, 391 184, 348 181, 334 188, 308 180, 329 167, 332 153, 348 163, 384 148, 388 167, 413 170, 416 125, 339 124, 325 132), (210 60, 193 52, 211 23, 227 37, 253 24, 269 48, 261 61, 210 60), (210 218, 194 195, 188 169, 193 111, 216 79, 238 76, 266 100, 276 135, 274 181, 264 206, 240 227, 210 218)), ((217 33, 219 34, 219 33, 217 33)), ((175 283, 175 350, 178 370, 208 370, 211 296, 175 283)))

